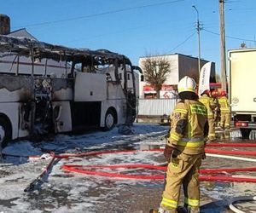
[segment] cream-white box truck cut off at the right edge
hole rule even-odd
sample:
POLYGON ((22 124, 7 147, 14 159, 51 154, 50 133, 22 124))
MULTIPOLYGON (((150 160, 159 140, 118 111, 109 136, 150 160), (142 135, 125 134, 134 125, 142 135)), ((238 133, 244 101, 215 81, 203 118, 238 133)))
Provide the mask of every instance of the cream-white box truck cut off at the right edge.
POLYGON ((230 62, 230 107, 234 125, 248 138, 256 129, 256 49, 232 49, 230 62))

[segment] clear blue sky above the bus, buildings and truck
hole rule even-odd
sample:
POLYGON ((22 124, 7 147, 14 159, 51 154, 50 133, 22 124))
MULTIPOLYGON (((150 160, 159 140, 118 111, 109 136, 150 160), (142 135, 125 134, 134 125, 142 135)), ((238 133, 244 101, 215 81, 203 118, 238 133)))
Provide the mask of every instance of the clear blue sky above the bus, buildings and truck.
MULTIPOLYGON (((25 27, 38 40, 68 47, 109 49, 137 65, 140 56, 198 56, 220 67, 218 0, 0 0, 11 31, 25 27)), ((256 0, 226 0, 226 49, 256 46, 256 0)))

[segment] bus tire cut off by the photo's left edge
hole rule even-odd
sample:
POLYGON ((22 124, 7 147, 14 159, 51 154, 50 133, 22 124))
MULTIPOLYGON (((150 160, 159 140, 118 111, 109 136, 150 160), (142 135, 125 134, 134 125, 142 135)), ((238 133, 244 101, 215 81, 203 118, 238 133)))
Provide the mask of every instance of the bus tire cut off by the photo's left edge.
POLYGON ((0 116, 0 146, 6 147, 12 138, 11 124, 7 118, 0 116))

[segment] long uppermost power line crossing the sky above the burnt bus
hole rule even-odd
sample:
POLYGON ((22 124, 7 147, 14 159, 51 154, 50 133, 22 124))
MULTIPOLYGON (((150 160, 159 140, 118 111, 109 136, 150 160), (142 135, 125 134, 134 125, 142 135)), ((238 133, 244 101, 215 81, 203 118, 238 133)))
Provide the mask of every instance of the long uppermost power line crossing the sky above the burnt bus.
POLYGON ((87 19, 87 18, 92 18, 92 17, 106 15, 106 14, 117 14, 117 13, 128 11, 128 10, 144 9, 144 8, 149 8, 149 7, 154 7, 154 6, 165 5, 165 4, 169 4, 169 3, 183 2, 183 1, 185 1, 185 0, 172 0, 172 1, 166 1, 166 2, 163 2, 163 3, 151 3, 151 4, 146 4, 146 5, 137 6, 137 7, 125 8, 125 9, 109 10, 109 11, 98 13, 98 14, 88 14, 88 15, 73 17, 73 18, 64 19, 64 20, 52 20, 52 21, 45 21, 45 22, 26 25, 26 26, 15 26, 14 28, 32 27, 32 26, 45 26, 45 25, 51 25, 51 24, 61 23, 61 22, 70 21, 70 20, 81 20, 81 19, 87 19))

